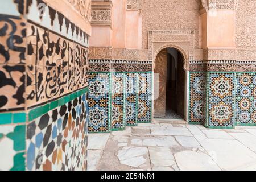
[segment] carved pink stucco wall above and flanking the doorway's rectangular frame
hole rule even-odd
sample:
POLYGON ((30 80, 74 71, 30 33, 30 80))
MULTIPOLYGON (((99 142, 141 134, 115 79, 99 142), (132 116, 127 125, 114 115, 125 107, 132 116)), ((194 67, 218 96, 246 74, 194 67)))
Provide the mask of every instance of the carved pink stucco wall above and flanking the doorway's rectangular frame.
POLYGON ((144 0, 142 47, 147 49, 150 30, 195 30, 195 48, 200 48, 200 0, 144 0))

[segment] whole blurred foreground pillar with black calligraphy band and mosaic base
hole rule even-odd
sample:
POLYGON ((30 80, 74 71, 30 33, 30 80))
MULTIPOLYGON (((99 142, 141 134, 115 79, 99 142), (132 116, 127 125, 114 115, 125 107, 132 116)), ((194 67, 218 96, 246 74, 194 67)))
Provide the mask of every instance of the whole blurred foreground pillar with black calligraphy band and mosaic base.
MULTIPOLYGON (((82 11, 63 6, 90 27, 84 2, 82 11)), ((0 170, 87 168, 90 29, 56 7, 42 0, 1 5, 0 170)))

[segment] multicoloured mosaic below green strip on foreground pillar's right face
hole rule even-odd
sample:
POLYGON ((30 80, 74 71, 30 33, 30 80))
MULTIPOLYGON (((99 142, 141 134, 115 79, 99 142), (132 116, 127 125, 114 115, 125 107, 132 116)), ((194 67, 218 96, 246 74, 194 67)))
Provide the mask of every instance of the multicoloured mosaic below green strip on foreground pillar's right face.
POLYGON ((85 170, 87 94, 36 118, 27 125, 28 170, 85 170))

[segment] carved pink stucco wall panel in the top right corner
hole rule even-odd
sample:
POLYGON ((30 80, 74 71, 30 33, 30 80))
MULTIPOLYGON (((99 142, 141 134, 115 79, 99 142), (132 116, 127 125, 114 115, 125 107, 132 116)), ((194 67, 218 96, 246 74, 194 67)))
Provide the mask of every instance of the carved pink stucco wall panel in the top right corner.
POLYGON ((239 49, 256 49, 255 0, 240 0, 237 3, 236 44, 239 49))

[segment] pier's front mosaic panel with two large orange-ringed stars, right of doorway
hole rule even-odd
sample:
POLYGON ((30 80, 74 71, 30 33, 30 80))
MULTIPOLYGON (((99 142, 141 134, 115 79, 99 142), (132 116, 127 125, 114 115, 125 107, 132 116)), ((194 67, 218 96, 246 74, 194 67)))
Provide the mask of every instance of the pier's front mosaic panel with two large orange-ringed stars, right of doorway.
POLYGON ((209 73, 209 127, 234 127, 234 73, 209 73))

